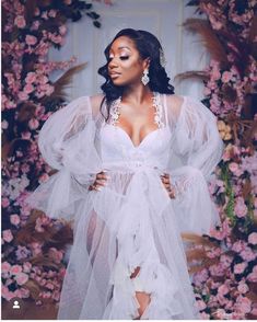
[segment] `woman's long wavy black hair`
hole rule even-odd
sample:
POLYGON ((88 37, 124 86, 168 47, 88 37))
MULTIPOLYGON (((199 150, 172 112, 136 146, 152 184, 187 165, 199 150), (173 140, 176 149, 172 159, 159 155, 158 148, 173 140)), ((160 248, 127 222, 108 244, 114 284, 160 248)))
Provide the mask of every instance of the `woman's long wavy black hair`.
MULTIPOLYGON (((98 69, 98 73, 105 78, 105 83, 101 87, 103 92, 105 93, 106 106, 107 106, 107 117, 109 117, 109 108, 110 104, 114 100, 118 99, 122 95, 125 87, 117 87, 113 83, 112 79, 108 76, 108 59, 109 59, 109 50, 113 43, 121 36, 126 36, 130 38, 136 48, 139 51, 139 55, 142 59, 150 59, 149 67, 149 88, 152 92, 159 92, 164 94, 174 94, 174 87, 170 84, 170 78, 165 71, 165 68, 161 65, 160 61, 160 50, 162 50, 162 46, 159 39, 151 33, 145 31, 136 31, 133 28, 125 28, 121 30, 112 41, 112 43, 105 48, 104 54, 107 59, 107 62, 98 69)), ((102 111, 103 102, 101 104, 102 111)))

